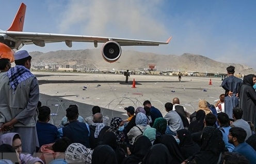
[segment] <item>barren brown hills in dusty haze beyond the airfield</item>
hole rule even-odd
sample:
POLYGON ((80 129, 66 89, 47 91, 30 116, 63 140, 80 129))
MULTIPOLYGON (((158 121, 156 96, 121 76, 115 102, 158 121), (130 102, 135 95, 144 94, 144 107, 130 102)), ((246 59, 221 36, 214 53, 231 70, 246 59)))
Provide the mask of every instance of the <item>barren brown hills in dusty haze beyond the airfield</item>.
POLYGON ((159 55, 137 51, 122 51, 118 61, 106 62, 99 48, 86 50, 60 50, 55 52, 30 52, 33 57, 33 65, 84 65, 87 69, 100 70, 143 70, 154 64, 157 71, 197 71, 207 73, 226 73, 229 65, 234 65, 235 73, 255 74, 252 68, 238 63, 224 63, 212 60, 202 55, 185 53, 183 55, 159 55))

